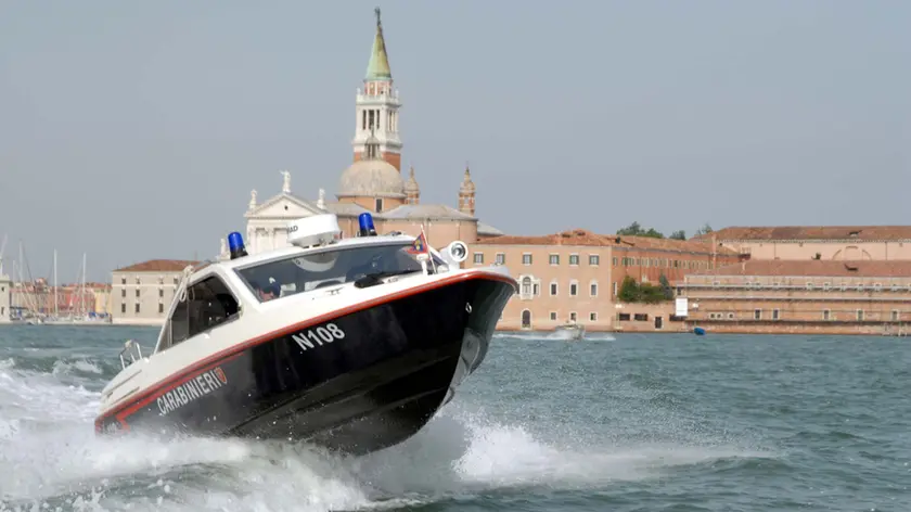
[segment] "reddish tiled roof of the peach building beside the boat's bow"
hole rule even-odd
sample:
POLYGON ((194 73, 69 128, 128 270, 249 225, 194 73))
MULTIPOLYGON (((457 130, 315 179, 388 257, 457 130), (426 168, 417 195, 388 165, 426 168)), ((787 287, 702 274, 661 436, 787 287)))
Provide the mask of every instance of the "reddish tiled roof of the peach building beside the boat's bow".
MULTIPOLYGON (((479 240, 474 245, 585 245, 620 246, 652 251, 680 251, 688 253, 710 253, 711 242, 698 240, 655 239, 618 234, 598 234, 585 229, 570 229, 554 234, 538 236, 502 235, 479 240)), ((718 247, 719 255, 734 255, 734 251, 718 247)))

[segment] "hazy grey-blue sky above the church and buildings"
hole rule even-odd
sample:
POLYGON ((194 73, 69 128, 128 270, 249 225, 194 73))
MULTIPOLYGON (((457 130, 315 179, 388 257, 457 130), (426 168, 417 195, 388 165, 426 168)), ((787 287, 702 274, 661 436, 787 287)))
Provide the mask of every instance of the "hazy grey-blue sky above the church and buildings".
MULTIPOLYGON (((214 257, 249 190, 330 197, 376 1, 0 3, 7 268, 214 257)), ((908 223, 911 2, 380 4, 421 201, 514 234, 908 223)))

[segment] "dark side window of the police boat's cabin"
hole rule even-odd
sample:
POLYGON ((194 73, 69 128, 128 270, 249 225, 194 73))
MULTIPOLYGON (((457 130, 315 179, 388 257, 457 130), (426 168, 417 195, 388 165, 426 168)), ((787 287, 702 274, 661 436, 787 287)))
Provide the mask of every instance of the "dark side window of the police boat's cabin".
POLYGON ((177 304, 168 320, 165 335, 170 336, 162 349, 232 320, 239 310, 238 299, 217 276, 191 284, 187 298, 177 304))

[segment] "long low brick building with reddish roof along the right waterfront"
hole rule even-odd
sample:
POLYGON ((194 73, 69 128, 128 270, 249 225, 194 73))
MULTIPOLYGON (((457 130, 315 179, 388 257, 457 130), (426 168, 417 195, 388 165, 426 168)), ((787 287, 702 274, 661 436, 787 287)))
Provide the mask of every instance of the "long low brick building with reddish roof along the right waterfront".
POLYGON ((714 332, 906 334, 911 260, 748 260, 678 283, 688 324, 714 332))

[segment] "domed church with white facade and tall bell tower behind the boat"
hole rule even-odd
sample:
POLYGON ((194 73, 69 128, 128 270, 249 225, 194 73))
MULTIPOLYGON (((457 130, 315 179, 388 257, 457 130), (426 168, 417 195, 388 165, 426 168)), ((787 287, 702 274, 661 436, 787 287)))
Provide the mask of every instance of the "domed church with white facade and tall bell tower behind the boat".
MULTIPOLYGON (((373 216, 378 233, 400 231, 416 236, 423 229, 435 247, 444 247, 454 240, 472 243, 503 234, 475 216, 476 189, 467 167, 458 191, 457 207, 421 203, 414 169, 409 169, 408 179, 401 172, 400 107, 377 9, 376 33, 363 88, 358 89, 355 98, 354 158, 338 179, 335 201, 328 201, 322 189, 316 201, 293 193, 291 174, 281 171, 283 183, 279 194, 259 203, 257 192, 251 192, 244 214, 247 251, 256 254, 287 246, 288 221, 326 213, 338 217, 346 238, 356 235, 358 217, 363 213, 373 216)), ((222 239, 219 258, 227 257, 227 241, 222 239)))

